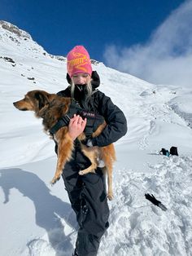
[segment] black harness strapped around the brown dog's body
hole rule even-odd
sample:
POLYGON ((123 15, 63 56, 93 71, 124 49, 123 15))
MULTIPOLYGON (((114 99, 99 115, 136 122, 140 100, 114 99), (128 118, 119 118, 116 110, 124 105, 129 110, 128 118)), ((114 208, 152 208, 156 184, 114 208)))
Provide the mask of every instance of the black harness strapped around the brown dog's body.
POLYGON ((104 117, 98 115, 93 112, 86 112, 83 108, 81 108, 80 104, 76 102, 75 99, 72 99, 72 103, 68 109, 68 113, 66 113, 63 117, 59 119, 59 121, 50 129, 50 135, 55 135, 55 133, 62 128, 63 126, 68 126, 70 119, 76 115, 80 115, 83 119, 87 118, 86 126, 85 126, 85 136, 90 137, 95 130, 98 129, 98 126, 103 124, 104 117))

